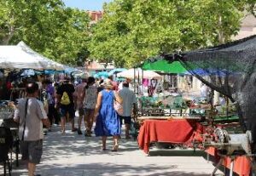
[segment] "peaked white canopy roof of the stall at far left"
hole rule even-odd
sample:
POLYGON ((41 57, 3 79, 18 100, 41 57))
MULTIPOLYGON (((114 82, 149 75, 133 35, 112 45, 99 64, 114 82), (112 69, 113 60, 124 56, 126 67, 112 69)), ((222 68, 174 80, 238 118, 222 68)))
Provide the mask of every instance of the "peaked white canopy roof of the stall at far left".
POLYGON ((0 46, 0 68, 63 71, 64 65, 49 60, 20 42, 16 46, 0 46))

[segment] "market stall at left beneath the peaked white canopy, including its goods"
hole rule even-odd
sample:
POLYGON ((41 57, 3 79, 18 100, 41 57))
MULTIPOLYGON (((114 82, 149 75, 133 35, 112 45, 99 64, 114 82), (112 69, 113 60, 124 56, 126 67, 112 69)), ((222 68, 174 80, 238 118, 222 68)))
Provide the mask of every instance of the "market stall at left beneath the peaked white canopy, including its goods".
POLYGON ((0 46, 0 70, 3 72, 3 77, 0 77, 0 88, 6 98, 0 99, 0 123, 3 122, 5 127, 10 128, 14 136, 17 166, 19 165, 18 124, 13 121, 13 116, 15 103, 26 95, 23 81, 26 81, 25 77, 33 77, 46 70, 64 71, 64 69, 64 65, 38 54, 23 42, 16 46, 0 46), (14 93, 17 97, 12 96, 14 93))

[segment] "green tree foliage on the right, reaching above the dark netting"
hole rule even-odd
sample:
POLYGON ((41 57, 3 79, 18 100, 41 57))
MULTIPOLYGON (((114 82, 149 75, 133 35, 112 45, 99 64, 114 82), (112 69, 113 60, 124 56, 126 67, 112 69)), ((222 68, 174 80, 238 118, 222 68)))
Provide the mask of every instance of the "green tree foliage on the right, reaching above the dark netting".
POLYGON ((93 27, 90 58, 138 65, 155 54, 230 40, 255 0, 113 0, 93 27))

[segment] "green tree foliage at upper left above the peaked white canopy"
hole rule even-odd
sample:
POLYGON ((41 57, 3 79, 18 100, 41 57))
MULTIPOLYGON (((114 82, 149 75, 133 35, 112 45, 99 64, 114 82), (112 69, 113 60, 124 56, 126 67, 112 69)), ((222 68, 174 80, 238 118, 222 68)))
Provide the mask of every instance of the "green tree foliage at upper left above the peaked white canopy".
POLYGON ((50 59, 81 65, 89 51, 89 16, 61 0, 0 0, 0 44, 21 40, 50 59))

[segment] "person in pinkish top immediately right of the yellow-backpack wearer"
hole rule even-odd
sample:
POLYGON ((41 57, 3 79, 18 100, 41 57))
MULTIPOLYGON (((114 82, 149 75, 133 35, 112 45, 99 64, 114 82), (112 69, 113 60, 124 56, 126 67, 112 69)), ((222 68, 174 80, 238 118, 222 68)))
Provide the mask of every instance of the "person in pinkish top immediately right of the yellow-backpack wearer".
MULTIPOLYGON (((79 135, 82 134, 81 131, 81 123, 82 123, 82 119, 84 117, 84 105, 83 105, 83 101, 84 101, 84 88, 86 86, 87 80, 85 77, 82 78, 82 82, 79 83, 79 85, 77 85, 77 87, 75 88, 75 93, 74 93, 74 97, 75 97, 75 109, 79 111, 79 120, 78 120, 78 133, 79 135)), ((84 121, 84 126, 85 126, 85 121, 84 121)))

